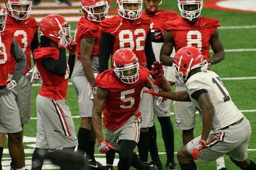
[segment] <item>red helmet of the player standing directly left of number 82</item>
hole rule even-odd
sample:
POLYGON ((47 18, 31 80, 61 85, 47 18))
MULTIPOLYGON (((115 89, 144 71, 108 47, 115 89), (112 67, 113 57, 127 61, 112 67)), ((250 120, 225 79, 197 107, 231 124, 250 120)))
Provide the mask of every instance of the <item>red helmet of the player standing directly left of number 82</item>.
POLYGON ((106 0, 81 0, 84 16, 88 20, 100 22, 108 13, 108 1, 106 0))

